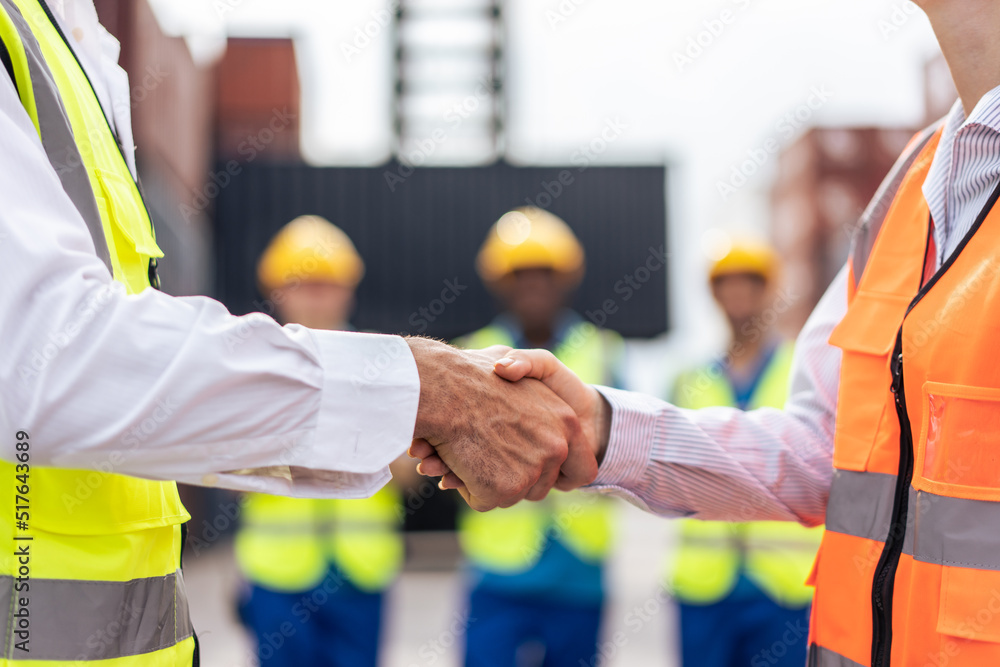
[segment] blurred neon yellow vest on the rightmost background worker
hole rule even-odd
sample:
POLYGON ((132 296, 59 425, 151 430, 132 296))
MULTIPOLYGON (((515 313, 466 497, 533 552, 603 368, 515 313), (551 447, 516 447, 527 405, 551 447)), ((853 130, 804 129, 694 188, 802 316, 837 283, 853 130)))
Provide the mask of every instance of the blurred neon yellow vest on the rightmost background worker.
MULTIPOLYGON (((775 352, 749 408, 781 408, 788 395, 793 346, 775 352)), ((683 408, 733 406, 732 386, 717 364, 681 375, 674 402, 683 408)), ((812 600, 805 580, 819 548, 822 528, 789 521, 726 523, 686 519, 680 522, 680 544, 667 563, 667 585, 688 604, 712 604, 736 585, 741 569, 778 604, 800 608, 812 600)))

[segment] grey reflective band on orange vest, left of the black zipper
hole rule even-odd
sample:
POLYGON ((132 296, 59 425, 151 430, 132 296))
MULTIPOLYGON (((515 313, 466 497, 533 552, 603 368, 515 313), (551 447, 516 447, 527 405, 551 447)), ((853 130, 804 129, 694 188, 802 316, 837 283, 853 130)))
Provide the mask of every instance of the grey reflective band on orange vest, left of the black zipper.
POLYGON ((826 529, 885 541, 895 493, 895 475, 834 470, 826 509, 826 529))

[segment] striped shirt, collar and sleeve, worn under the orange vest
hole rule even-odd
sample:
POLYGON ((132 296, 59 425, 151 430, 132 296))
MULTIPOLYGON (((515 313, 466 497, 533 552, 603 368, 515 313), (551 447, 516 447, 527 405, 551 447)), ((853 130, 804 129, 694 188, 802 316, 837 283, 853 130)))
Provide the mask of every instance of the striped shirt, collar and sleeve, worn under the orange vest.
MULTIPOLYGON (((940 266, 1000 179, 1000 88, 968 119, 945 122, 923 185, 940 266)), ((684 410, 651 396, 600 388, 611 440, 592 487, 663 516, 823 522, 833 476, 840 350, 829 344, 847 312, 847 272, 820 300, 796 342, 783 410, 684 410)))

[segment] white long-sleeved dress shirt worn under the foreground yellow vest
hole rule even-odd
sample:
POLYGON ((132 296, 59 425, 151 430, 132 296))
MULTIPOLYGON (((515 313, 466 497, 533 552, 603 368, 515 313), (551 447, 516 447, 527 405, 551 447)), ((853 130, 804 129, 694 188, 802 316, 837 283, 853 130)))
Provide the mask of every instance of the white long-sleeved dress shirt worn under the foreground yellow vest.
MULTIPOLYGON (((127 77, 92 0, 52 2, 132 157, 127 77)), ((409 446, 397 336, 279 326, 205 297, 127 295, 0 70, 0 458, 296 496, 358 497, 409 446)))

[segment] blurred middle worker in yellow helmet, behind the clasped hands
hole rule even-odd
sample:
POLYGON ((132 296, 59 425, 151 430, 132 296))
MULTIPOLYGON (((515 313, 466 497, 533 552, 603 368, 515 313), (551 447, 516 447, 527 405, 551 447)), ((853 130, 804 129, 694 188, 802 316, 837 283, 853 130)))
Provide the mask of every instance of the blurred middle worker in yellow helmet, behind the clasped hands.
MULTIPOLYGON (((545 348, 588 382, 616 382, 621 338, 566 307, 583 278, 584 252, 565 222, 538 208, 505 214, 490 229, 477 268, 505 312, 458 345, 545 348)), ((469 615, 476 619, 466 667, 592 664, 611 514, 607 499, 553 491, 541 502, 461 516, 469 615)))

